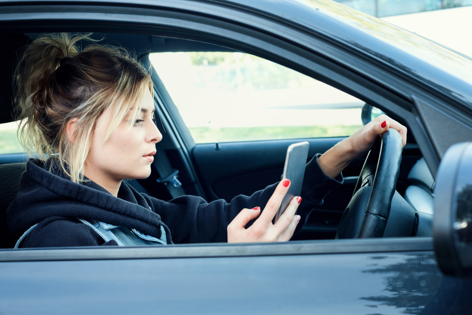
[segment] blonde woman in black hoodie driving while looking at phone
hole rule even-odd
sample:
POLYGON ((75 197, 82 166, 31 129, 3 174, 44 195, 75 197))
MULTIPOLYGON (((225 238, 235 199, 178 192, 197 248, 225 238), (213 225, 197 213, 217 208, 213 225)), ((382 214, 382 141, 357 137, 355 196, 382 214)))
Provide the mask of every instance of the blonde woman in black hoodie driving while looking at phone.
POLYGON ((196 196, 164 202, 123 181, 150 175, 162 139, 151 77, 116 48, 89 45, 78 52, 74 44, 81 39, 89 38, 38 38, 17 67, 19 137, 40 158, 26 163, 7 210, 16 247, 287 241, 378 135, 395 128, 406 142, 406 128, 383 115, 317 154, 306 165, 303 196, 294 197, 275 224, 289 180, 229 204, 196 196))

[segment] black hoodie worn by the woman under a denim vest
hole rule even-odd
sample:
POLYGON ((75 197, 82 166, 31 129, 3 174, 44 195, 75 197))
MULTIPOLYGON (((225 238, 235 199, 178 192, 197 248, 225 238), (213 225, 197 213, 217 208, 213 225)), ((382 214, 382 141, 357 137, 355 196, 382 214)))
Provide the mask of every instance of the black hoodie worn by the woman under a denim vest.
MULTIPOLYGON (((341 174, 336 179, 326 176, 318 165, 318 156, 305 168, 303 199, 298 208, 302 224, 296 231, 306 222, 312 206, 321 204, 324 196, 343 181, 341 174)), ((226 242, 228 224, 241 209, 263 209, 277 186, 270 185, 252 196, 236 196, 230 203, 207 203, 197 196, 165 202, 140 194, 123 181, 115 197, 93 181, 70 181, 59 167, 48 171, 49 163, 50 160, 45 164, 38 159, 26 163, 18 195, 7 209, 8 230, 14 239, 38 223, 20 247, 118 245, 114 240, 105 243, 76 218, 125 226, 156 238, 161 237, 162 226, 168 244, 226 242)))

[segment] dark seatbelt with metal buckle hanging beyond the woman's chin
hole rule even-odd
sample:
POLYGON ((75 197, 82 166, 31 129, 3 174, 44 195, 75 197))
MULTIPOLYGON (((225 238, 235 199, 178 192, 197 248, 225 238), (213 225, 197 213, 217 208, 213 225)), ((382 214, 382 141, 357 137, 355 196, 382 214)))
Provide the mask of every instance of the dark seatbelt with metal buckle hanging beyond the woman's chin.
POLYGON ((163 183, 167 190, 169 190, 172 198, 177 198, 185 195, 182 183, 177 179, 178 170, 174 170, 170 165, 169 158, 160 143, 156 144, 156 154, 154 155, 154 162, 152 165, 156 168, 160 178, 156 179, 158 183, 163 183))

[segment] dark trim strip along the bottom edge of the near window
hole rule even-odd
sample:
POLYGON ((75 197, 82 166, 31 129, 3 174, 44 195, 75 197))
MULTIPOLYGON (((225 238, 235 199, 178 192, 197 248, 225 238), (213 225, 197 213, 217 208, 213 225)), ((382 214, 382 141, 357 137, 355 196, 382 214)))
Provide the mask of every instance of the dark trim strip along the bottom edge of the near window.
POLYGON ((250 244, 0 249, 0 262, 211 258, 433 251, 432 238, 363 238, 250 244))

